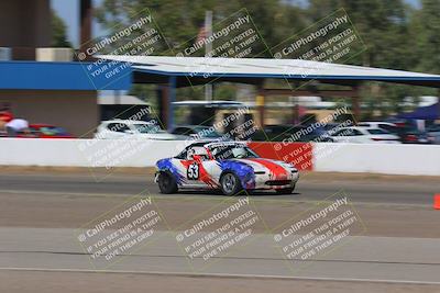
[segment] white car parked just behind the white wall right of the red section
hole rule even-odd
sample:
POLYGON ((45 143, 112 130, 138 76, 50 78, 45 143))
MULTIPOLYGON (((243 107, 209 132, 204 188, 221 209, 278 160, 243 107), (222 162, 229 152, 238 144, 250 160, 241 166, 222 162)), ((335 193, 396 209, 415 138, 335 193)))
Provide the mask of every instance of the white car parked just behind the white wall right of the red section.
POLYGON ((381 128, 371 127, 343 127, 331 134, 330 138, 336 143, 385 143, 400 144, 397 135, 381 128))

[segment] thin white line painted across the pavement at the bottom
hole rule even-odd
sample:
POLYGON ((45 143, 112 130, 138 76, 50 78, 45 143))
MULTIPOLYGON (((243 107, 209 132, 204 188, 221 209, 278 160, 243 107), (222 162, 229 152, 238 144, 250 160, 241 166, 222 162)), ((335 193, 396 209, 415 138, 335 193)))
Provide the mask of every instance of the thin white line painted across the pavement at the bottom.
POLYGON ((44 268, 0 268, 0 271, 40 271, 40 272, 78 272, 78 273, 127 273, 127 274, 152 274, 174 277, 199 277, 199 278, 246 278, 246 279, 273 279, 273 280, 310 280, 310 281, 336 281, 336 282, 370 282, 370 283, 396 283, 396 284, 429 284, 440 285, 440 282, 383 280, 383 279, 351 279, 351 278, 321 278, 321 277, 294 277, 294 275, 268 275, 268 274, 231 274, 231 273, 187 273, 187 272, 161 272, 161 271, 128 271, 128 270, 87 270, 87 269, 44 269, 44 268))

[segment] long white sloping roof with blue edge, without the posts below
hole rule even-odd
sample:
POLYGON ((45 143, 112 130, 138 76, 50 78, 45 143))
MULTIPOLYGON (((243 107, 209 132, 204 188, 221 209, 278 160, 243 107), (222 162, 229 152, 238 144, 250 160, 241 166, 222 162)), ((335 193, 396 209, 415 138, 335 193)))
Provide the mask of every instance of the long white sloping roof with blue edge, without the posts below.
POLYGON ((169 76, 175 76, 177 86, 207 83, 216 79, 255 83, 255 80, 260 78, 284 78, 320 80, 337 84, 355 84, 359 81, 375 80, 440 88, 438 75, 300 59, 116 55, 97 57, 132 64, 134 79, 139 82, 166 81, 169 76))

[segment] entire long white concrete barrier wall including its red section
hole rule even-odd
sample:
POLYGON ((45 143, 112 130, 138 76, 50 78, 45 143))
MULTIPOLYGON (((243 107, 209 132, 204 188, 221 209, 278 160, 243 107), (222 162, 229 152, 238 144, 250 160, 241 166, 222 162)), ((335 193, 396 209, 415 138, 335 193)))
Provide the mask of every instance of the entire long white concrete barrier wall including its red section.
MULTIPOLYGON (((271 143, 251 146, 261 156, 275 156, 305 170, 440 176, 440 146, 436 145, 320 143, 311 148, 309 144, 286 144, 278 149, 279 144, 272 147, 266 144, 271 143)), ((186 142, 176 140, 2 138, 0 165, 152 167, 156 160, 174 156, 185 146, 186 142)))

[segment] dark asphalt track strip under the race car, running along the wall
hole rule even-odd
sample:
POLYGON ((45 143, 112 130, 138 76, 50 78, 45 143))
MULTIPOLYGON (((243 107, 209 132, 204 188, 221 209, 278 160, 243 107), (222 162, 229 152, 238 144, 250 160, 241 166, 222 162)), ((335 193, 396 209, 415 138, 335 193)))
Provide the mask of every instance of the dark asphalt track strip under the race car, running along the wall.
MULTIPOLYGON (((89 170, 74 173, 0 173, 1 192, 4 193, 64 193, 64 194, 113 194, 133 195, 147 191, 158 193, 153 174, 89 173, 89 170)), ((316 177, 301 174, 293 195, 275 195, 271 192, 253 194, 266 199, 288 199, 297 201, 320 201, 340 190, 345 191, 352 201, 366 203, 420 204, 431 205, 432 196, 440 191, 440 180, 421 180, 411 177, 392 179, 376 177, 348 177, 339 174, 316 177)), ((188 196, 213 196, 216 192, 184 191, 188 196)))

